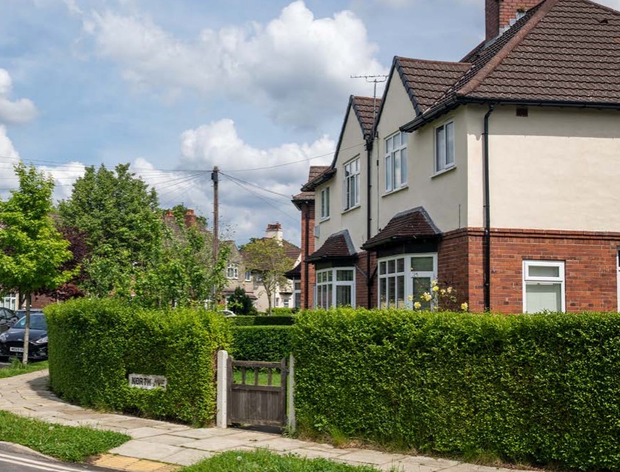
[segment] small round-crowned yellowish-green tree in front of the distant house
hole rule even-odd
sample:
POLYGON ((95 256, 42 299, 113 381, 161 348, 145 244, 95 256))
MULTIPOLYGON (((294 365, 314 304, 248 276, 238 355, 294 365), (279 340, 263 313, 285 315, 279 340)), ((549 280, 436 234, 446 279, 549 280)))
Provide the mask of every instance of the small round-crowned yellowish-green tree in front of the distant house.
POLYGON ((289 283, 284 274, 293 266, 294 261, 286 256, 284 246, 274 238, 254 239, 243 246, 242 254, 246 268, 261 273, 271 314, 274 294, 280 286, 289 283))

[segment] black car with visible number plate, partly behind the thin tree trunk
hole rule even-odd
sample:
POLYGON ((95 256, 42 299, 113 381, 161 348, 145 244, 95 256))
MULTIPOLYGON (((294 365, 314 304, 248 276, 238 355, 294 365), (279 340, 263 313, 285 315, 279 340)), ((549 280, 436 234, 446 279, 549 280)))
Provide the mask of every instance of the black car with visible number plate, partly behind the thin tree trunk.
MULTIPOLYGON (((23 355, 25 328, 26 317, 24 316, 9 331, 0 334, 0 358, 23 355)), ((41 311, 31 311, 30 313, 28 358, 32 360, 47 358, 47 323, 45 315, 41 311)))

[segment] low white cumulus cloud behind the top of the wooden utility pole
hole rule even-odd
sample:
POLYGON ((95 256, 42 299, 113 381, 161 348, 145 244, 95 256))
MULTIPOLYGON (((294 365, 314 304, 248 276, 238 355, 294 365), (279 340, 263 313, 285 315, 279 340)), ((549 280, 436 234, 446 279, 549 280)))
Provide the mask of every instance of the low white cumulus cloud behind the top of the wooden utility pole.
POLYGON ((212 221, 211 170, 219 164, 220 221, 236 241, 263 236, 266 225, 275 221, 284 226, 286 238, 299 241, 300 217, 291 196, 305 183, 310 164, 331 162, 336 143, 323 137, 311 144, 256 149, 241 139, 234 121, 221 119, 184 131, 180 146, 177 169, 182 170, 157 171, 144 158, 132 164, 133 171, 157 189, 161 206, 183 202, 212 221))

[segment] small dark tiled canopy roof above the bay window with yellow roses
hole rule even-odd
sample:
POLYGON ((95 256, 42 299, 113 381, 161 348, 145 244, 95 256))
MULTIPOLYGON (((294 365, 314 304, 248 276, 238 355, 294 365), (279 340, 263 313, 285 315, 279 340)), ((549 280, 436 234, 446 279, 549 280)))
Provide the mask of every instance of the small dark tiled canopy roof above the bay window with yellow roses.
POLYGON ((439 236, 441 231, 435 226, 426 210, 421 206, 403 211, 392 217, 384 229, 361 246, 362 249, 376 248, 388 243, 407 239, 439 236))

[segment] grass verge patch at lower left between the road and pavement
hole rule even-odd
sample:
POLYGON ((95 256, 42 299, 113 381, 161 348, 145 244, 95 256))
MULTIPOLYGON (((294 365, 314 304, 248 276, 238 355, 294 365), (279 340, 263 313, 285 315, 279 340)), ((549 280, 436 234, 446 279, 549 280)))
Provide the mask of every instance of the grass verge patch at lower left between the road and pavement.
POLYGON ((0 438, 71 462, 104 453, 131 439, 114 431, 45 423, 8 411, 0 411, 0 438))

